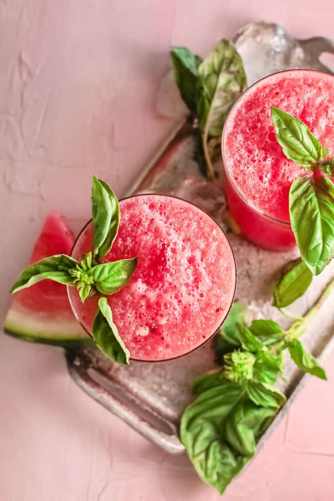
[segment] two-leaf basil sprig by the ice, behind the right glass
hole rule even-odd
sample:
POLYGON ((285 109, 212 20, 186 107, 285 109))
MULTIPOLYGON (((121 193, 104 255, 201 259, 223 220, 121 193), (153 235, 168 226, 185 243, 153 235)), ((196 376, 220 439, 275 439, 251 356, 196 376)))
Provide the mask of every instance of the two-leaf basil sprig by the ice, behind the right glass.
POLYGON ((198 118, 206 174, 214 178, 212 150, 220 144, 226 116, 247 86, 242 59, 229 40, 221 40, 204 59, 184 47, 171 50, 181 97, 198 118))

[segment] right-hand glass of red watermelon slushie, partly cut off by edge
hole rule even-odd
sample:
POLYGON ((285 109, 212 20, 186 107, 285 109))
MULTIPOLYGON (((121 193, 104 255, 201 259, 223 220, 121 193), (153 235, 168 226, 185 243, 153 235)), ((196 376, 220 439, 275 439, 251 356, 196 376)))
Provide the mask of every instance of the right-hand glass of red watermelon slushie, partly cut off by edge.
POLYGON ((312 172, 288 160, 275 138, 270 108, 303 121, 334 155, 334 77, 288 70, 246 90, 231 109, 222 136, 228 209, 241 233, 269 250, 295 245, 289 188, 312 172))

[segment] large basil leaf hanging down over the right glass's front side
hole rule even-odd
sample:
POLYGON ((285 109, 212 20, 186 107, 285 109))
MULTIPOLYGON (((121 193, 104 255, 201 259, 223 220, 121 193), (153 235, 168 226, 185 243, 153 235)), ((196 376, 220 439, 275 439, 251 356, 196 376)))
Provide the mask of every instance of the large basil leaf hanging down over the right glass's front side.
POLYGON ((301 259, 318 275, 334 254, 334 185, 326 177, 299 177, 289 193, 291 228, 301 259))

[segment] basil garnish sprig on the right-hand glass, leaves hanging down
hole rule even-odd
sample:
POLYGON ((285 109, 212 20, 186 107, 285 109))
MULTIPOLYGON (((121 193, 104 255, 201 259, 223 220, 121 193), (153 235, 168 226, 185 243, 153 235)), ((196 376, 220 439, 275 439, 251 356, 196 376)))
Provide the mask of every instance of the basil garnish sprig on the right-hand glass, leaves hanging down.
POLYGON ((273 304, 283 308, 302 296, 312 275, 334 257, 334 184, 324 175, 333 175, 334 158, 301 120, 275 107, 271 117, 285 156, 315 173, 290 186, 290 222, 302 262, 283 271, 274 289, 273 304))

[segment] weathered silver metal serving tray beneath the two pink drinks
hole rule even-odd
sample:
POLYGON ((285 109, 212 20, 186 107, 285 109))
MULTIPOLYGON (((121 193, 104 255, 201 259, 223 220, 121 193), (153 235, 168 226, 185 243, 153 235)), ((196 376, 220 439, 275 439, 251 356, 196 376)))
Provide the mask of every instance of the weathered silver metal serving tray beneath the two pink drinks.
MULTIPOLYGON (((292 68, 332 73, 319 60, 324 52, 334 54, 334 43, 324 38, 294 40, 277 25, 255 23, 237 34, 235 44, 243 58, 249 85, 271 73, 292 68)), ((169 78, 169 82, 172 83, 172 79, 169 78)), ((175 88, 171 92, 175 92, 175 88)), ((289 321, 270 305, 271 288, 275 274, 296 256, 296 250, 266 252, 229 231, 224 222, 222 163, 215 165, 217 179, 208 182, 194 160, 193 132, 194 124, 189 119, 182 120, 127 194, 157 192, 176 195, 209 212, 226 230, 235 253, 238 267, 236 297, 249 305, 252 318, 272 318, 287 327, 289 321)), ((334 266, 329 266, 314 279, 310 291, 296 302, 294 313, 305 312, 333 275, 334 266)), ((316 356, 322 356, 334 342, 331 300, 323 305, 320 315, 303 336, 303 344, 316 356)), ((112 362, 92 348, 68 350, 66 357, 72 378, 88 395, 166 451, 183 452, 184 447, 178 438, 179 419, 192 399, 190 381, 215 365, 210 343, 175 361, 132 362, 129 367, 112 362)), ((260 444, 277 426, 305 379, 289 362, 284 376, 285 381, 281 381, 280 387, 287 402, 260 444)))

